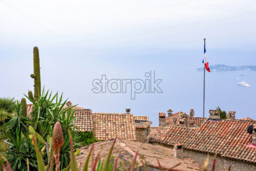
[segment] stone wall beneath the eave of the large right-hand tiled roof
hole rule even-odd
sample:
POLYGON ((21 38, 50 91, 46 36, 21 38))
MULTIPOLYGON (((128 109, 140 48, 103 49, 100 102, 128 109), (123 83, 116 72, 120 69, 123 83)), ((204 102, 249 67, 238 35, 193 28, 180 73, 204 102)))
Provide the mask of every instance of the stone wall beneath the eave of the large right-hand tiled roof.
MULTIPOLYGON (((183 153, 184 153, 184 156, 186 156, 192 160, 195 160, 202 165, 204 164, 204 161, 207 158, 207 154, 205 154, 205 153, 190 151, 188 149, 184 149, 183 153)), ((211 164, 212 164, 213 159, 214 159, 214 156, 210 155, 208 170, 211 170, 211 164)), ((242 170, 242 171, 256 170, 256 165, 239 162, 236 160, 229 160, 229 159, 225 159, 223 157, 217 156, 215 170, 217 170, 217 171, 218 170, 228 170, 229 165, 231 165, 231 170, 242 170)))

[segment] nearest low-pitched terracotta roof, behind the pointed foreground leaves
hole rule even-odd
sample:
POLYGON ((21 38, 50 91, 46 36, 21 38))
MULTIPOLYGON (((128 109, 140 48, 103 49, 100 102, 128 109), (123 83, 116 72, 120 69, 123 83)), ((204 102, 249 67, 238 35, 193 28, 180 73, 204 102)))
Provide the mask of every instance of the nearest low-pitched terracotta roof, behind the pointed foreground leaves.
MULTIPOLYGON (((94 156, 97 155, 97 153, 100 151, 101 147, 103 147, 103 150, 101 150, 100 157, 101 160, 105 160, 106 156, 108 156, 109 149, 113 143, 113 139, 101 141, 95 143, 95 152, 94 156)), ((78 163, 82 163, 81 166, 83 167, 84 161, 87 158, 87 155, 90 151, 92 145, 85 146, 80 148, 80 155, 76 157, 78 163)), ((117 157, 119 154, 122 155, 122 159, 119 157, 120 160, 129 160, 130 162, 133 160, 134 155, 139 148, 139 154, 138 156, 144 156, 145 161, 148 165, 151 167, 157 167, 157 159, 160 161, 160 164, 162 167, 172 167, 178 163, 181 163, 179 166, 175 167, 176 169, 180 170, 201 170, 201 165, 198 164, 195 161, 192 161, 188 158, 184 159, 178 159, 173 156, 173 149, 163 147, 160 145, 153 145, 137 141, 130 141, 130 140, 120 140, 117 139, 117 142, 114 145, 112 156, 117 157), (139 148, 140 147, 140 148, 139 148)), ((139 161, 139 157, 137 157, 137 161, 139 165, 141 162, 139 161)), ((89 169, 91 167, 91 159, 89 161, 89 169)))

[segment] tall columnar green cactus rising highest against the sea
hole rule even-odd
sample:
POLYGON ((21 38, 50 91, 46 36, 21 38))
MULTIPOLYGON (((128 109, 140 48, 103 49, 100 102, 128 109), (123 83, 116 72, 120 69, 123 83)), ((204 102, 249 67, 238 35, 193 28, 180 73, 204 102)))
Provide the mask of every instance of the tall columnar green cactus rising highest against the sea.
POLYGON ((34 74, 31 74, 31 78, 34 79, 34 100, 38 101, 41 96, 41 78, 40 78, 40 63, 39 63, 39 51, 37 47, 34 47, 34 74), (38 97, 39 96, 39 97, 38 97))

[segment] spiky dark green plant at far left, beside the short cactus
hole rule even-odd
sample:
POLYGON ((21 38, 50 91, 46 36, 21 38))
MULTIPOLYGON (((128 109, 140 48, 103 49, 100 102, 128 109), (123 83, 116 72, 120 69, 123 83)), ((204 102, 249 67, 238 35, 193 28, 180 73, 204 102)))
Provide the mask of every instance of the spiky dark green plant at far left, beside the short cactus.
POLYGON ((5 155, 13 170, 27 170, 27 158, 31 169, 36 167, 34 147, 28 138, 28 125, 31 123, 27 116, 22 115, 21 104, 17 101, 14 105, 14 117, 5 124, 9 144, 5 155))

